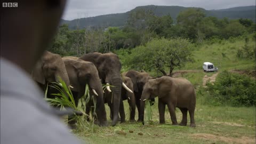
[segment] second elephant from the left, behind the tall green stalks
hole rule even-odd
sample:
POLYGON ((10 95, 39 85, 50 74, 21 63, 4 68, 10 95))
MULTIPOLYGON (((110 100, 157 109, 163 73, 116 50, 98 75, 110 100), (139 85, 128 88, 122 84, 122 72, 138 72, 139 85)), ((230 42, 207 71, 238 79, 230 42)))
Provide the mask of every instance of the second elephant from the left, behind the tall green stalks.
MULTIPOLYGON (((96 102, 96 114, 98 117, 98 124, 100 126, 107 126, 107 115, 103 100, 103 89, 101 81, 98 75, 98 70, 92 62, 83 60, 74 60, 68 57, 62 58, 67 69, 70 84, 73 86, 71 91, 74 96, 76 107, 78 100, 85 93, 85 86, 89 84, 89 87, 93 94, 96 102)), ((69 124, 73 125, 75 121, 71 121, 69 124)))

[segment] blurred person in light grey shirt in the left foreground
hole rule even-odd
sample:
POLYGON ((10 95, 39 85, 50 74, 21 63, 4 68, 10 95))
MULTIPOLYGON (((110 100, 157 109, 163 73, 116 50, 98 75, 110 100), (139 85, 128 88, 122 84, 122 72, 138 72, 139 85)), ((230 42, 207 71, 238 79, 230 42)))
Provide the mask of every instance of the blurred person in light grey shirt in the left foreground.
POLYGON ((18 7, 1 3, 1 144, 80 143, 30 78, 54 36, 66 1, 17 2, 18 7))

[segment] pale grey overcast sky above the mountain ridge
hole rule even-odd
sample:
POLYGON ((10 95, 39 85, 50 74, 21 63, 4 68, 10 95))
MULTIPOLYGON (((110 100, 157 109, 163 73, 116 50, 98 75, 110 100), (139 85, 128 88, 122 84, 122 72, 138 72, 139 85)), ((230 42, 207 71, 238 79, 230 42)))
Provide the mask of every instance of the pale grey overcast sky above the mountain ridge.
POLYGON ((218 10, 255 5, 255 0, 69 0, 62 18, 73 20, 102 14, 123 13, 143 5, 178 5, 218 10))

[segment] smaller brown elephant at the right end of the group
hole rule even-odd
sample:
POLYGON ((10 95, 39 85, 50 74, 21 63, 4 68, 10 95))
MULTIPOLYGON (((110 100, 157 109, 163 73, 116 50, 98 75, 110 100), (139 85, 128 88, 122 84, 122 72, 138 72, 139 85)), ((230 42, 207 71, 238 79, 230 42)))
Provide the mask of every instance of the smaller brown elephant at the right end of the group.
POLYGON ((168 106, 172 124, 177 125, 175 108, 182 112, 182 121, 179 125, 187 125, 187 112, 189 111, 190 126, 195 127, 194 111, 196 107, 196 93, 194 86, 185 78, 172 78, 163 76, 150 79, 143 87, 141 96, 141 119, 143 122, 145 100, 158 96, 159 121, 165 123, 165 105, 168 106))

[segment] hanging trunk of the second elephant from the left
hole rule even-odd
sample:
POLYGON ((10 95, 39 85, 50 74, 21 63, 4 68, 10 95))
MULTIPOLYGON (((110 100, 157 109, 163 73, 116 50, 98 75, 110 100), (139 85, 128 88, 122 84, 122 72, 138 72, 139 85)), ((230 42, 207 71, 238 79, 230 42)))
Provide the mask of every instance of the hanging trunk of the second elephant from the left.
POLYGON ((98 117, 99 125, 100 126, 107 126, 107 114, 106 109, 104 105, 104 99, 103 99, 103 89, 102 84, 100 82, 100 79, 95 81, 90 81, 90 87, 91 89, 94 89, 98 96, 94 96, 96 99, 96 114, 98 117))

